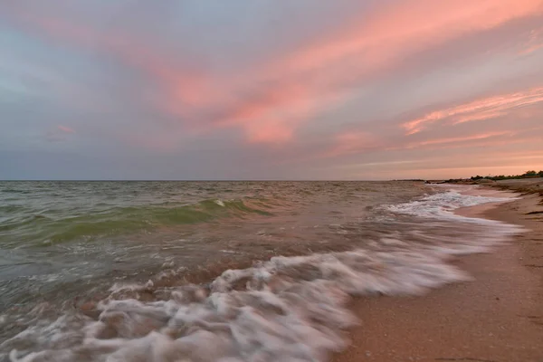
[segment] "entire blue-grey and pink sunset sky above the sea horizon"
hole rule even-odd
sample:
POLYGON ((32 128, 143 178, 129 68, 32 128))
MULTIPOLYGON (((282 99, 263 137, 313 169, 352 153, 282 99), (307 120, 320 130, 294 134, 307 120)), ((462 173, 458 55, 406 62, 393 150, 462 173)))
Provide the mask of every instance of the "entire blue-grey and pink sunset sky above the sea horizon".
POLYGON ((542 0, 0 8, 0 179, 543 169, 542 0))

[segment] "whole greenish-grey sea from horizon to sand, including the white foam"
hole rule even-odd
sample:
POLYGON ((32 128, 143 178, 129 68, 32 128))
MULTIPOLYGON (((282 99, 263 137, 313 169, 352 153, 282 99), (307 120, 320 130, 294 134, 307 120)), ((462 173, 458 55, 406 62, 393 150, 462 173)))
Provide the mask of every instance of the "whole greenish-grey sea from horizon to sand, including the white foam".
POLYGON ((505 201, 415 181, 0 182, 0 361, 326 361, 361 322, 349 300, 470 281, 453 258, 522 230, 454 210, 505 201))

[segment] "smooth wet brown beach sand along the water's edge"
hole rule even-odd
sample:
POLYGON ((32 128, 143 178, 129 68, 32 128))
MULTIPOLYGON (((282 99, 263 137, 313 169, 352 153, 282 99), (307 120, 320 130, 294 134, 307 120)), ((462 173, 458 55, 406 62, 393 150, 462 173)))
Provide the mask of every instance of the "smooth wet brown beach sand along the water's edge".
POLYGON ((353 300, 361 324, 334 356, 354 361, 543 362, 543 210, 538 195, 458 210, 528 228, 513 243, 455 261, 473 281, 420 297, 353 300))

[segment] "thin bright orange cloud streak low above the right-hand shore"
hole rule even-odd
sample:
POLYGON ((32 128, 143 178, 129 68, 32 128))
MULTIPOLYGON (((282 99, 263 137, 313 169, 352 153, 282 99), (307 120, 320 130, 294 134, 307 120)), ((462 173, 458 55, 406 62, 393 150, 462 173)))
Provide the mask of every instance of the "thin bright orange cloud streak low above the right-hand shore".
POLYGON ((445 110, 436 110, 428 113, 423 118, 405 122, 402 127, 407 131, 407 135, 412 135, 435 122, 448 121, 452 124, 459 124, 475 120, 494 119, 507 115, 510 111, 517 110, 519 107, 541 101, 543 101, 543 88, 535 88, 474 100, 445 110))

